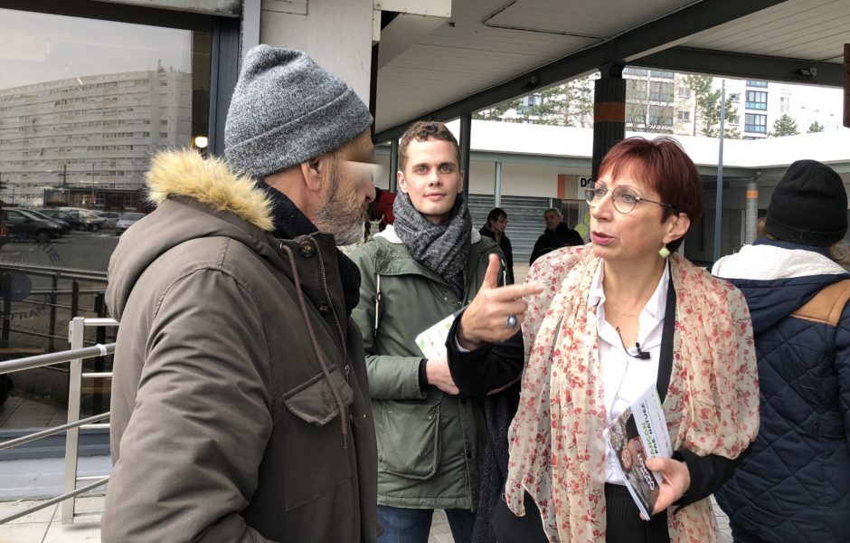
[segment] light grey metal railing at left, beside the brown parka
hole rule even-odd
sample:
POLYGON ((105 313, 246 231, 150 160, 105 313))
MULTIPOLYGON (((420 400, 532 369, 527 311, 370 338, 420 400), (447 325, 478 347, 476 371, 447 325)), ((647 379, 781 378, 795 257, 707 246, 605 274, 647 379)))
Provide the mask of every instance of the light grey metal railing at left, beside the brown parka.
POLYGON ((36 355, 34 357, 18 358, 7 362, 0 362, 0 374, 11 373, 14 371, 22 371, 24 369, 33 369, 35 367, 49 367, 54 364, 64 364, 70 362, 70 379, 68 385, 68 423, 48 428, 41 432, 31 433, 22 437, 8 440, 0 443, 0 450, 31 443, 42 437, 54 435, 56 433, 65 433, 65 468, 62 479, 62 491, 60 496, 56 496, 51 500, 42 501, 41 503, 29 507, 25 510, 20 510, 5 517, 0 518, 0 524, 9 522, 14 519, 20 519, 34 511, 42 510, 56 503, 62 504, 62 524, 70 524, 74 521, 74 507, 76 505, 76 497, 80 494, 96 489, 109 482, 109 475, 93 475, 80 477, 78 472, 79 460, 79 443, 80 443, 80 428, 83 430, 93 428, 109 428, 107 424, 97 424, 99 421, 109 418, 109 412, 95 414, 93 416, 80 419, 80 403, 82 396, 82 379, 84 378, 109 378, 111 372, 89 372, 82 371, 82 360, 84 358, 105 357, 115 352, 115 343, 106 345, 97 344, 93 347, 83 347, 85 329, 87 327, 107 327, 118 326, 118 321, 114 319, 86 319, 77 317, 71 319, 68 323, 68 341, 71 343, 71 349, 57 353, 48 353, 46 355, 36 355), (78 482, 93 481, 89 484, 77 488, 78 482))

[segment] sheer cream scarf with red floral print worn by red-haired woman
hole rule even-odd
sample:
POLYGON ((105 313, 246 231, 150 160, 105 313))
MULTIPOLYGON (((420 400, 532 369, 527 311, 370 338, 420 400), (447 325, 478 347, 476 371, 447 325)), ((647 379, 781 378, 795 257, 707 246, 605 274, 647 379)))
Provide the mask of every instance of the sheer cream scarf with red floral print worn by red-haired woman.
MULTIPOLYGON (((732 284, 673 254, 673 369, 664 401, 674 449, 736 458, 759 429, 750 313, 732 284)), ((527 491, 552 542, 604 543, 604 388, 596 308, 587 300, 600 265, 590 245, 552 252, 528 281, 544 285, 523 324, 525 369, 511 424, 508 507, 524 515, 527 491)), ((709 500, 668 511, 671 543, 717 540, 709 500)))

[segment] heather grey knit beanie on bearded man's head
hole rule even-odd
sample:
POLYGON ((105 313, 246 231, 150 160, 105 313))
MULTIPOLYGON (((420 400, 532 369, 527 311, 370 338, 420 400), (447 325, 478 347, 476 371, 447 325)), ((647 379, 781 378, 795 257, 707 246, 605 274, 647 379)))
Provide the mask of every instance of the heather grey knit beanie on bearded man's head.
POLYGON ((300 51, 253 47, 224 125, 224 158, 255 179, 343 146, 372 124, 354 90, 300 51))

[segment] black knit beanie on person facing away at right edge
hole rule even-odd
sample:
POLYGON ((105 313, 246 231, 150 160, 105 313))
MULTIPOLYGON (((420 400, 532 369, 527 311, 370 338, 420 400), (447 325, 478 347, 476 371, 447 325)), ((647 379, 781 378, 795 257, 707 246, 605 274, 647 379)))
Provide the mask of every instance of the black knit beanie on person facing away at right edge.
POLYGON ((836 171, 817 160, 788 167, 770 196, 764 229, 780 241, 828 247, 847 232, 847 193, 836 171))

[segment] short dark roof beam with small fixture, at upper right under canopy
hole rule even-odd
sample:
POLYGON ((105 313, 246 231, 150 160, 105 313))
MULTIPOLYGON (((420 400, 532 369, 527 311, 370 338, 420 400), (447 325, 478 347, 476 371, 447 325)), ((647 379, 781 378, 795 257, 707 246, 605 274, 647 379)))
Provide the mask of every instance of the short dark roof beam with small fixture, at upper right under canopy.
POLYGON ((753 80, 787 81, 810 85, 841 87, 844 71, 836 62, 812 62, 741 52, 714 51, 693 47, 672 47, 642 57, 635 62, 647 68, 667 71, 692 71, 753 80), (816 75, 800 75, 800 69, 812 69, 816 75))

